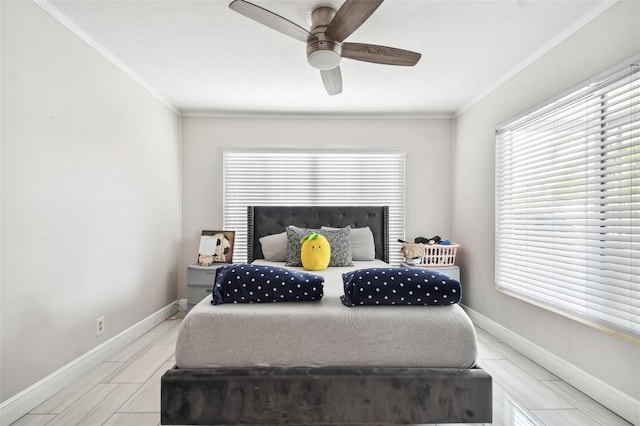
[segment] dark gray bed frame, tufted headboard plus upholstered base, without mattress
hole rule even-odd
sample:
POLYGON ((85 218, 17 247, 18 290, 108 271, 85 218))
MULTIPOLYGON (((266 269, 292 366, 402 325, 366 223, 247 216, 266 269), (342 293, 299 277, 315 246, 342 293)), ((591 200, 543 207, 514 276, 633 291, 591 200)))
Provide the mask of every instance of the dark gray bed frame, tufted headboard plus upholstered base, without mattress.
MULTIPOLYGON (((288 225, 369 226, 389 259, 388 207, 250 206, 249 261, 259 238, 288 225)), ((491 376, 481 368, 179 369, 161 379, 163 425, 489 423, 491 376)))

